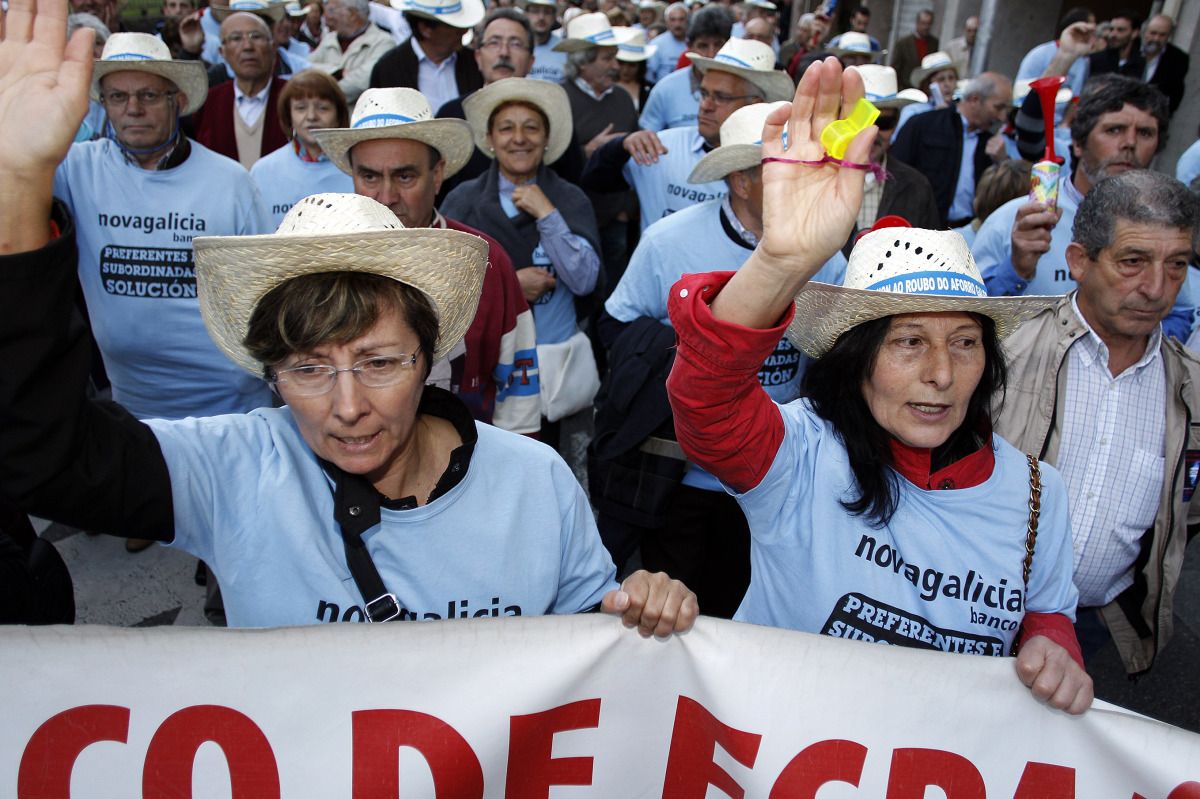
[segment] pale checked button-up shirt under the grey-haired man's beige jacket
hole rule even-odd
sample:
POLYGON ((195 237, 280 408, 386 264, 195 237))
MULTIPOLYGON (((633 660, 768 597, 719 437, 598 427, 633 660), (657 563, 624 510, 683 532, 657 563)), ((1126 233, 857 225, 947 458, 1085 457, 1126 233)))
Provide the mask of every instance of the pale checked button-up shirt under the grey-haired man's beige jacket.
MULTIPOLYGON (((1109 349, 1088 326, 1067 352, 1058 470, 1067 483, 1081 607, 1111 602, 1133 584, 1141 537, 1163 492, 1166 374, 1162 329, 1133 366, 1114 377, 1109 349)), ((1036 555, 1034 555, 1036 557, 1036 555)))

